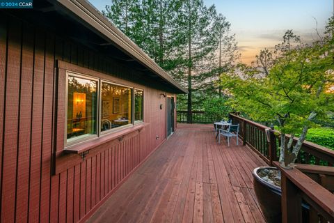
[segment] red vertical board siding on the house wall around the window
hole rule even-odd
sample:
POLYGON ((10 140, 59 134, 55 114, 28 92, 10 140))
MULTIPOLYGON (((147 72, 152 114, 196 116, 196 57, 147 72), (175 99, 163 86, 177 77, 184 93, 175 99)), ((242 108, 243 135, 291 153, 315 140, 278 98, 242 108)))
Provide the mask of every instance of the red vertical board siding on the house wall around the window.
POLYGON ((144 90, 145 126, 92 149, 84 160, 77 154, 58 158, 63 149, 58 139, 65 132, 64 120, 58 119, 65 101, 57 98, 56 61, 132 83, 129 68, 0 15, 0 222, 84 220, 166 140, 166 98, 161 97, 166 92, 132 83, 144 90))

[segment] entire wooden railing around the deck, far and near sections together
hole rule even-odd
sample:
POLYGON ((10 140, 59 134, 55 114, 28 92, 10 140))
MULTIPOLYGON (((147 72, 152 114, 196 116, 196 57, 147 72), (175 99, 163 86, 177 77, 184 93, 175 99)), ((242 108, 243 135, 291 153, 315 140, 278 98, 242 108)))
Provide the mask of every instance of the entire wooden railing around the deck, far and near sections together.
MULTIPOLYGON (((177 112, 179 122, 212 123, 219 119, 204 117, 205 112, 177 112), (200 118, 189 122, 189 116, 190 121, 193 117, 200 118)), ((297 168, 283 169, 277 162, 278 131, 235 114, 230 114, 230 118, 232 123, 240 124, 239 137, 244 145, 248 145, 267 164, 281 170, 283 222, 334 222, 334 151, 304 141, 296 160, 297 168)), ((294 137, 294 143, 297 140, 294 137)))

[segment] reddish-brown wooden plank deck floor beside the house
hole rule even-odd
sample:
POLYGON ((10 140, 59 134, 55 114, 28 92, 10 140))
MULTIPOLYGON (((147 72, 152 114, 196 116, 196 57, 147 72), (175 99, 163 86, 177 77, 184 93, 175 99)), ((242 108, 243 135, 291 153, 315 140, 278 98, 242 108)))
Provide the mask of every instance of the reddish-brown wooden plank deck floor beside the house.
POLYGON ((88 222, 264 222, 251 171, 265 162, 212 125, 177 128, 88 222))

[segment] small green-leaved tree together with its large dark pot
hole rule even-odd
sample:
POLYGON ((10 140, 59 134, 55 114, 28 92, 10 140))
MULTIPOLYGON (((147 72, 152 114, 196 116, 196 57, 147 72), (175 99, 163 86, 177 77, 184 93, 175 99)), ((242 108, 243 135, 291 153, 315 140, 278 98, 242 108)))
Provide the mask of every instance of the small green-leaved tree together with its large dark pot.
MULTIPOLYGON (((324 38, 311 45, 287 31, 283 43, 273 52, 262 50, 253 66, 237 66, 234 72, 221 75, 221 86, 231 94, 234 109, 255 121, 277 125, 283 168, 294 168, 308 129, 316 126, 315 118, 326 119, 334 109, 333 21, 333 17, 328 21, 324 38), (296 134, 299 139, 294 143, 296 134)), ((267 221, 280 222, 280 172, 261 167, 253 176, 267 221)))

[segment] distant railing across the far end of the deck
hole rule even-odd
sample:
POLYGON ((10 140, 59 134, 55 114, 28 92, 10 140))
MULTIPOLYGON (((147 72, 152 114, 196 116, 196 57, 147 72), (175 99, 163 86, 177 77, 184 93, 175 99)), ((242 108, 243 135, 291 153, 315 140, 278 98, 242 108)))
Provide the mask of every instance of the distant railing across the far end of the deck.
POLYGON ((206 112, 200 111, 177 111, 177 122, 179 123, 213 123, 219 117, 208 116, 206 112))

